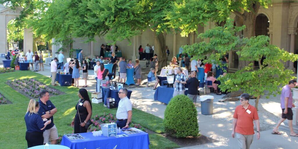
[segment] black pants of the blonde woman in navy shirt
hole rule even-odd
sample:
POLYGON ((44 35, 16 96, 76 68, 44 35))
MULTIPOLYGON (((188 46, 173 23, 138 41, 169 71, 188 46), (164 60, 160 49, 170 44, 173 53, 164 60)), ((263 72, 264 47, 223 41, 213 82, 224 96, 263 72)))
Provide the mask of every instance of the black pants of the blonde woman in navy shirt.
POLYGON ((28 148, 38 145, 44 145, 43 132, 26 132, 26 140, 28 148))

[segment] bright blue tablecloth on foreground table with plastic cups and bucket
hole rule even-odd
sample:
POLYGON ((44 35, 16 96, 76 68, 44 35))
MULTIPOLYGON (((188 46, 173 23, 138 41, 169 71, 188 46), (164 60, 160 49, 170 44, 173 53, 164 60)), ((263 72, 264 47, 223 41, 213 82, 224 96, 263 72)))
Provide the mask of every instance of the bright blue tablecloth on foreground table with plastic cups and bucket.
MULTIPOLYGON (((92 132, 80 133, 84 139, 70 140, 63 135, 61 145, 68 146, 71 149, 147 149, 149 148, 149 135, 146 132, 138 130, 137 134, 128 134, 128 137, 93 137, 92 132)), ((120 134, 125 134, 120 132, 120 134)), ((119 134, 118 134, 119 135, 119 134)))

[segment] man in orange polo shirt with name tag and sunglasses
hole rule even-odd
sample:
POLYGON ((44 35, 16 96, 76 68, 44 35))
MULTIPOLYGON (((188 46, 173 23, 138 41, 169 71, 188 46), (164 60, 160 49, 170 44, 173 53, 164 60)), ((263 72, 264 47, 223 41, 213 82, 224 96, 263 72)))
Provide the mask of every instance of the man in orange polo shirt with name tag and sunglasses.
POLYGON ((254 123, 257 126, 257 140, 260 139, 260 121, 257 109, 248 102, 249 94, 241 94, 240 105, 236 107, 233 116, 232 137, 234 138, 236 136, 239 148, 242 149, 249 149, 252 144, 254 123))

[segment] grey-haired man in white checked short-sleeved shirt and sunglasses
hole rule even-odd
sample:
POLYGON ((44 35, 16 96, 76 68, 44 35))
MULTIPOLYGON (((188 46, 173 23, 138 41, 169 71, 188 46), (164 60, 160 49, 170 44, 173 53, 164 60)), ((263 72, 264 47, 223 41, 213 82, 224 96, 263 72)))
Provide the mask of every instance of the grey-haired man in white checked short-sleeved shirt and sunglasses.
POLYGON ((132 117, 132 104, 127 97, 127 89, 121 88, 118 92, 120 101, 118 103, 118 109, 116 113, 116 124, 117 127, 128 128, 129 123, 131 122, 132 117))

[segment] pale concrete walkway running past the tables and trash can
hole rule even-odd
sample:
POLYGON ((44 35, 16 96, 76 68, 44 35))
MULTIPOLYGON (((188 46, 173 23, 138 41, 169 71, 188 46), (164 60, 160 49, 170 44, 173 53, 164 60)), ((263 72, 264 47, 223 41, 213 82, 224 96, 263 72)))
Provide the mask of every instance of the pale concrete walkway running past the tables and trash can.
MULTIPOLYGON (((45 65, 44 71, 39 71, 37 73, 50 76, 50 67, 45 65)), ((89 78, 87 80, 88 87, 85 87, 89 92, 95 92, 96 82, 93 74, 93 71, 89 70, 89 78)), ((79 84, 80 86, 83 86, 84 80, 80 79, 79 84)), ((130 100, 133 103, 134 108, 164 118, 164 110, 167 105, 154 101, 154 90, 152 90, 152 88, 130 88, 130 90, 133 91, 130 100)), ((197 103, 197 107, 199 108, 199 103, 197 103)), ((186 148, 239 148, 237 139, 231 137, 231 123, 198 114, 198 124, 200 134, 218 140, 218 142, 186 148)), ((280 130, 280 132, 283 132, 282 135, 273 135, 271 134, 271 131, 271 129, 262 131, 260 133, 260 140, 257 140, 256 135, 254 135, 254 141, 251 148, 298 148, 298 137, 290 136, 289 130, 280 130)))

